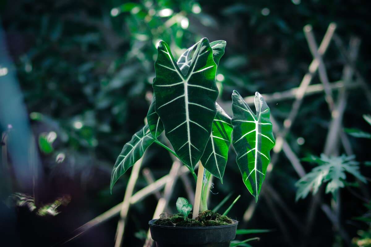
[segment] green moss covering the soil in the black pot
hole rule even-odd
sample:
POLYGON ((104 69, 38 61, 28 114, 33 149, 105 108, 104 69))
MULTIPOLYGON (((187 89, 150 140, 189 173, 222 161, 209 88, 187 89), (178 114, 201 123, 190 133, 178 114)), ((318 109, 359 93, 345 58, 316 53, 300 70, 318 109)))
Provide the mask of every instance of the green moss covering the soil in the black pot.
POLYGON ((200 226, 226 226, 232 224, 231 218, 211 210, 199 214, 196 219, 192 219, 192 213, 184 220, 182 214, 167 215, 164 214, 155 224, 160 226, 178 226, 178 227, 200 227, 200 226))

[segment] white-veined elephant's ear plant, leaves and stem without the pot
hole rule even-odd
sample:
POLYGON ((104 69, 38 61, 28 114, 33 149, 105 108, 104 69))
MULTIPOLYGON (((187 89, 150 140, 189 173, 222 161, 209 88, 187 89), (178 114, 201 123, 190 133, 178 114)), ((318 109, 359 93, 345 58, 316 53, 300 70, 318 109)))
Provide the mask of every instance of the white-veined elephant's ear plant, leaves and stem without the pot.
MULTIPOLYGON (((232 94, 232 119, 216 103, 219 91, 215 76, 224 54, 225 41, 209 43, 201 39, 187 49, 176 61, 169 46, 161 41, 155 62, 153 99, 147 114, 148 125, 134 134, 125 144, 112 171, 111 190, 118 178, 142 157, 144 151, 165 135, 174 148, 171 150, 191 171, 197 181, 203 173, 220 179, 230 143, 237 153, 243 183, 256 198, 259 196, 270 150, 275 145, 270 122, 270 110, 259 93, 255 93, 254 113, 237 91, 232 94), (232 141, 231 141, 232 138, 232 141), (198 176, 194 168, 199 164, 198 176)), ((197 183, 193 218, 198 215, 201 186, 197 183), (196 205, 196 206, 195 206, 196 205)), ((207 208, 201 206, 201 211, 207 208)))

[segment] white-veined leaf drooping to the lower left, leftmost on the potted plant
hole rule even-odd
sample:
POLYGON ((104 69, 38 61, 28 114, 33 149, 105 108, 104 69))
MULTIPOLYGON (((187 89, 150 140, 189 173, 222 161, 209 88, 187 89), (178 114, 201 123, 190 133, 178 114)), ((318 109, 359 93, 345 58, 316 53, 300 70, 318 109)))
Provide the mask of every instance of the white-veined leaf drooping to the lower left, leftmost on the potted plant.
POLYGON ((148 125, 145 125, 141 130, 134 134, 131 140, 124 145, 120 155, 117 157, 115 166, 111 175, 111 191, 112 187, 135 162, 144 154, 144 151, 154 142, 148 125))

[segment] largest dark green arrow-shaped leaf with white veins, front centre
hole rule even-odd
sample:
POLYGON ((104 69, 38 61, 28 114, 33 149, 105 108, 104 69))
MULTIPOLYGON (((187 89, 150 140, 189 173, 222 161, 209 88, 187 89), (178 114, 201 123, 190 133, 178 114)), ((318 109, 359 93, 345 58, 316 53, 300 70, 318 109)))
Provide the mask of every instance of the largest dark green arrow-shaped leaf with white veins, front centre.
POLYGON ((155 71, 155 110, 175 152, 193 170, 204 152, 216 115, 216 64, 209 41, 204 38, 197 44, 186 74, 161 41, 155 71))

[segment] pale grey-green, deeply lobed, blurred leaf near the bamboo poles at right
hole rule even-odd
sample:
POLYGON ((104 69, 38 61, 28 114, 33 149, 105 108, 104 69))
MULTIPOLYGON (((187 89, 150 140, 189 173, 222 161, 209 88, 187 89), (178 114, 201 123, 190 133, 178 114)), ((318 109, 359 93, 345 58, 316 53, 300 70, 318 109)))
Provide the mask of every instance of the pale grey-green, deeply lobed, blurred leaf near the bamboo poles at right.
MULTIPOLYGON (((326 186, 326 193, 335 192, 345 186, 344 180, 346 179, 345 171, 357 177, 363 183, 366 179, 359 173, 359 163, 354 161, 355 156, 339 156, 328 157, 321 154, 321 157, 316 157, 313 160, 317 164, 321 164, 318 160, 323 162, 322 165, 315 167, 312 171, 302 177, 295 186, 298 187, 296 191, 296 200, 305 198, 312 191, 312 194, 317 193, 322 183, 329 182, 326 186)), ((336 199, 336 197, 334 197, 336 199)))

